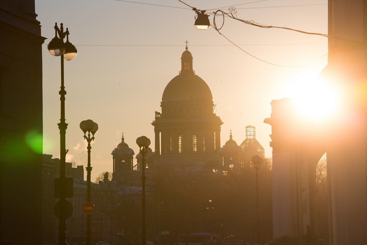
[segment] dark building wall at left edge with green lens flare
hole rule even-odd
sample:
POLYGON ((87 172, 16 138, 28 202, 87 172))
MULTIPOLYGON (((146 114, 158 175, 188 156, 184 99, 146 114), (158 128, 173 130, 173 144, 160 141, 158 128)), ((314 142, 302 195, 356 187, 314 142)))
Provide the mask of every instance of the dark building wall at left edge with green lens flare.
POLYGON ((0 1, 0 243, 40 244, 42 50, 32 0, 0 1))

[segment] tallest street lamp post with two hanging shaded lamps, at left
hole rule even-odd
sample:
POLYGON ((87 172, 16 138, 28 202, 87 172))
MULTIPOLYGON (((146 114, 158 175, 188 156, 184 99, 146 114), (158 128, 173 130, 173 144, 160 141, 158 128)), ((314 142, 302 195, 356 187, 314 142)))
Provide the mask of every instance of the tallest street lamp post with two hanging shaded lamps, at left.
POLYGON ((57 23, 55 23, 55 37, 52 38, 50 43, 47 45, 48 51, 53 56, 61 56, 61 87, 59 91, 60 101, 61 101, 61 117, 59 126, 60 130, 60 218, 59 218, 59 245, 66 245, 66 214, 65 214, 65 178, 66 178, 66 167, 65 167, 65 157, 66 157, 66 147, 65 147, 65 136, 66 128, 68 124, 65 122, 65 86, 64 86, 64 60, 72 60, 77 54, 76 47, 69 42, 69 30, 66 28, 64 32, 63 24, 60 24, 58 28, 57 23), (58 37, 59 36, 59 37, 58 37), (66 42, 64 43, 64 38, 66 36, 66 42))

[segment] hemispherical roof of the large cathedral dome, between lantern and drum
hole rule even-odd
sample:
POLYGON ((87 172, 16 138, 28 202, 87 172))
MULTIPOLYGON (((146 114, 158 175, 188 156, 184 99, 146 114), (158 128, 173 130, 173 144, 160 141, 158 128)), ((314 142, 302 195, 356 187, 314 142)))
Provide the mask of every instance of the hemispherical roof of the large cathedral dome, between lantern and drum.
POLYGON ((183 99, 212 100, 213 97, 209 86, 198 75, 181 73, 167 84, 163 92, 162 101, 183 99))

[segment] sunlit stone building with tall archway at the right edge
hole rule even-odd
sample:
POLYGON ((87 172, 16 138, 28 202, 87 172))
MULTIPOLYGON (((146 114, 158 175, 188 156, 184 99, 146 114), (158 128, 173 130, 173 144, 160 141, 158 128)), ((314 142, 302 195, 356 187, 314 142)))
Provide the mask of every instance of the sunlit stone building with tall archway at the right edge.
MULTIPOLYGON (((291 99, 273 100, 273 235, 304 244, 316 237, 316 167, 327 154, 329 244, 367 240, 367 1, 328 3, 328 64, 320 79, 336 88, 337 113, 322 123, 297 118, 291 99), (334 38, 338 37, 338 38, 334 38)), ((311 97, 312 95, 310 95, 311 97)), ((312 98, 310 98, 312 99, 312 98)))

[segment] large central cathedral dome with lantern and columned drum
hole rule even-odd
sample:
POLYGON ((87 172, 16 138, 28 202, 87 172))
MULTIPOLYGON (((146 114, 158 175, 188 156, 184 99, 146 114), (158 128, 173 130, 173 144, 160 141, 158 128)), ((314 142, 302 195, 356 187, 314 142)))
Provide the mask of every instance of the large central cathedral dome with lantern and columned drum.
POLYGON ((193 58, 186 50, 181 71, 166 86, 162 112, 156 111, 155 168, 195 167, 215 161, 220 164, 220 131, 223 124, 213 113, 209 86, 193 71, 193 58))

